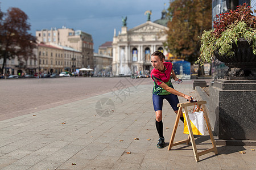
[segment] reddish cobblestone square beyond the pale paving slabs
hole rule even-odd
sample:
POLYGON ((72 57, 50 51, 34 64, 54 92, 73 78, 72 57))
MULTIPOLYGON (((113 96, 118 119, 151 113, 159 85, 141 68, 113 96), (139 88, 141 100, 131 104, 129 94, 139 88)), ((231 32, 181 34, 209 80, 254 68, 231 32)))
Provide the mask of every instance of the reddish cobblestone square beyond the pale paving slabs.
POLYGON ((138 84, 152 84, 152 79, 89 77, 0 79, 2 96, 0 120, 138 84))

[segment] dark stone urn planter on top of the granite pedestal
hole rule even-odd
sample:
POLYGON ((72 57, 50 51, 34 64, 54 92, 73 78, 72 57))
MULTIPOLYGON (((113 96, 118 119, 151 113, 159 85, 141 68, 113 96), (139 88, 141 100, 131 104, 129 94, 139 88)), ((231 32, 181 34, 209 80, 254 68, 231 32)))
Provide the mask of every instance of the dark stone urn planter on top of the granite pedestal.
POLYGON ((253 54, 251 44, 245 39, 238 41, 237 45, 232 44, 233 57, 220 56, 217 51, 214 52, 214 56, 229 67, 226 76, 256 76, 256 55, 253 54))

